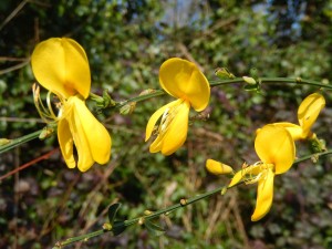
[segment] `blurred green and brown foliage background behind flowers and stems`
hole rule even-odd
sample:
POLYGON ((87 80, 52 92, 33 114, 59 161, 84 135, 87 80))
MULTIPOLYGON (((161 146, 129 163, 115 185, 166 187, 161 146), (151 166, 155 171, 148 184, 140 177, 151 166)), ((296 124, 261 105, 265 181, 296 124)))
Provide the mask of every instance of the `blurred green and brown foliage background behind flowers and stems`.
MULTIPOLYGON (((159 89, 158 69, 168 58, 197 63, 209 80, 218 66, 237 76, 332 79, 331 0, 4 0, 0 2, 0 137, 15 138, 44 126, 33 105, 29 58, 35 44, 70 37, 85 49, 92 91, 108 90, 120 102, 159 89)), ((123 204, 120 218, 135 218, 227 185, 205 169, 214 158, 239 169, 258 160, 255 131, 271 122, 297 123, 301 101, 317 89, 241 85, 211 90, 208 108, 191 113, 186 144, 174 155, 149 154, 145 125, 162 96, 133 114, 95 113, 108 128, 112 160, 87 173, 69 169, 59 153, 0 183, 0 248, 52 248, 59 240, 97 230, 107 207, 123 204), (208 118, 207 118, 208 117, 208 118)), ((313 131, 332 146, 331 94, 313 131)), ((94 105, 91 107, 94 110, 94 105)), ((94 110, 95 111, 95 110, 94 110)), ((271 142, 273 143, 273 142, 271 142)), ((298 143, 298 157, 308 155, 298 143)), ((56 148, 53 136, 0 155, 0 175, 56 148)), ((300 164, 276 178, 270 212, 251 222, 256 185, 177 210, 158 222, 154 237, 134 226, 68 248, 332 248, 332 159, 300 164)))

